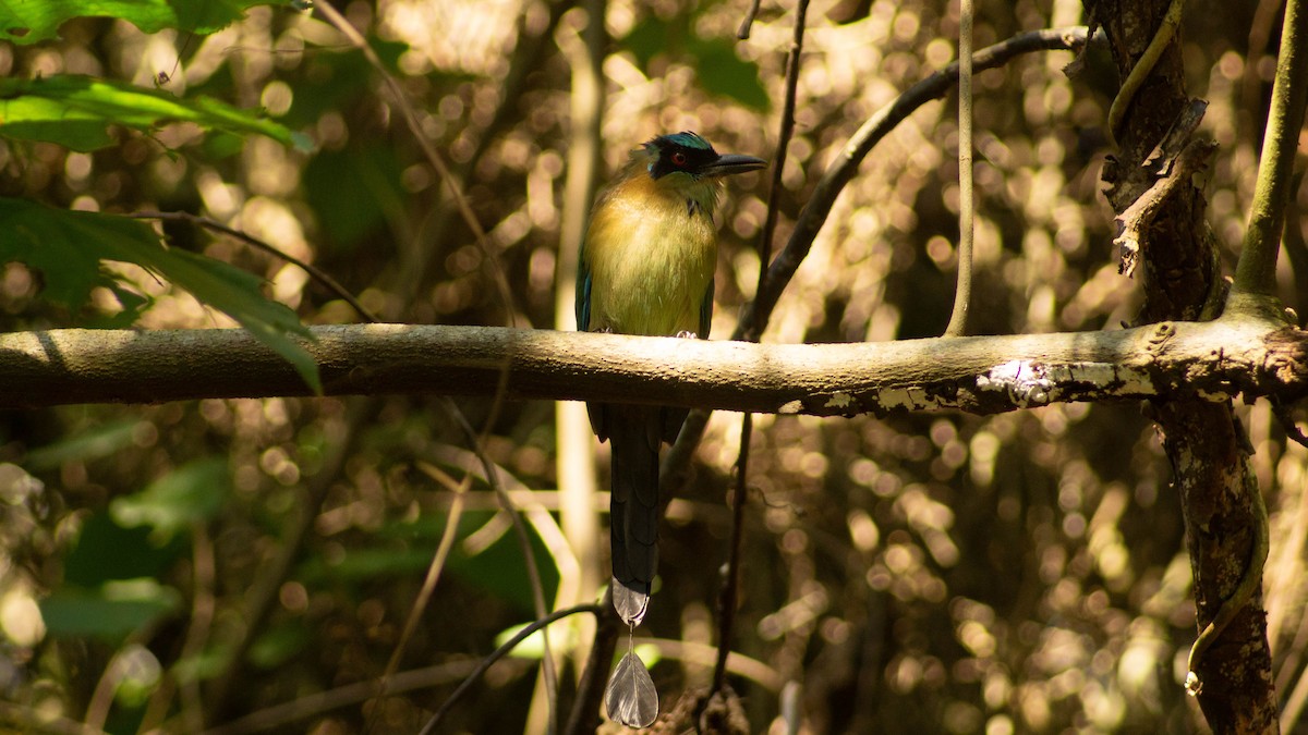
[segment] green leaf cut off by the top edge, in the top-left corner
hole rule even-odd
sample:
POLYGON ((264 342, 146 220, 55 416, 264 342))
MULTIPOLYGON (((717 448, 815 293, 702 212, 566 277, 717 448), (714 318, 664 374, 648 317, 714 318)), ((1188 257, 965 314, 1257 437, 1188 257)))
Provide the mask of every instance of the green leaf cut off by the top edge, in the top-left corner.
POLYGON ((221 30, 254 5, 273 0, 0 0, 0 39, 18 44, 58 38, 72 18, 122 18, 144 33, 175 27, 196 35, 221 30))

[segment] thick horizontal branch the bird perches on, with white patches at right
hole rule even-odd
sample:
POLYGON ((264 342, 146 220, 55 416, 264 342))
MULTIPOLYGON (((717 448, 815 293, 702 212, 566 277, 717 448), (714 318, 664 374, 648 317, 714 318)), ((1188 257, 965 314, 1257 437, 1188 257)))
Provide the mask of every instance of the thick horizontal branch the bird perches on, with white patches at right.
MULTIPOLYGON (((511 400, 854 416, 1240 391, 1290 402, 1308 390, 1308 332, 1230 315, 1112 332, 821 345, 504 327, 311 331, 317 340, 306 348, 327 395, 494 395, 504 382, 511 400)), ((306 391, 289 364, 243 330, 0 335, 0 408, 306 391)))

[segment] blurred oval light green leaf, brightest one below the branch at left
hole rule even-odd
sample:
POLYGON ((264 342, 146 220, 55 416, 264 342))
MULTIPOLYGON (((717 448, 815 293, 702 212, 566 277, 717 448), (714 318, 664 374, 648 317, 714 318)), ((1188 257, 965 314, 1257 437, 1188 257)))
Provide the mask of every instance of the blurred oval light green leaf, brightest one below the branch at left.
POLYGON ((200 459, 154 480, 139 493, 114 498, 109 513, 126 528, 153 526, 152 538, 166 540, 191 523, 217 515, 230 485, 225 458, 200 459))

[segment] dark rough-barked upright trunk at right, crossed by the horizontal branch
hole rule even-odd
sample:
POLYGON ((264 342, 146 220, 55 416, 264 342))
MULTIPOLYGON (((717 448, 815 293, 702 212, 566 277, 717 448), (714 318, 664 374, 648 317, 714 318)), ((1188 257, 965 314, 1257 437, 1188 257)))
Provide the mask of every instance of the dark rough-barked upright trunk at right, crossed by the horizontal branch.
MULTIPOLYGON (((1087 0, 1086 9, 1108 33, 1125 80, 1163 24, 1168 0, 1087 0)), ((1199 12, 1196 9, 1196 12, 1199 12)), ((1118 150, 1104 166, 1105 195, 1129 245, 1124 269, 1139 269, 1144 303, 1139 323, 1211 319, 1222 280, 1216 242, 1207 228, 1203 194, 1189 173, 1202 169, 1211 144, 1190 140, 1196 110, 1185 92, 1180 35, 1158 59, 1117 133, 1118 150), (1193 124, 1185 124, 1186 120, 1193 124), (1186 156, 1192 160, 1186 165, 1186 156), (1169 180, 1184 169, 1180 180, 1169 180), (1133 207, 1144 203, 1144 207, 1133 207)), ((1231 596, 1256 553, 1253 506, 1258 492, 1248 439, 1230 400, 1192 396, 1152 402, 1154 419, 1181 493, 1185 535, 1202 629, 1231 596)), ((1196 662, 1199 708, 1214 732, 1277 732, 1277 701, 1260 591, 1196 662)))

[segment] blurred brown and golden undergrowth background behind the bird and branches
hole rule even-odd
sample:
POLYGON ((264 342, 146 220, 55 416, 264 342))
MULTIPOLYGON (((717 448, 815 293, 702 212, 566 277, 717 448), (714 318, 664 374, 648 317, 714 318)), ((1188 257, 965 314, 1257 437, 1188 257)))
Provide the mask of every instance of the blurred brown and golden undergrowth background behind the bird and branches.
MULTIPOLYGON (((1190 93, 1219 145, 1205 183, 1227 265, 1240 241, 1270 89, 1277 3, 1196 9, 1184 26, 1190 93), (1270 41, 1269 41, 1270 39, 1270 41)), ((82 73, 263 107, 311 136, 301 152, 177 124, 69 153, 0 140, 0 194, 114 213, 186 211, 313 262, 386 320, 553 328, 570 90, 583 29, 568 0, 378 0, 336 5, 417 111, 487 231, 459 217, 364 55, 320 14, 255 7, 209 37, 146 35, 78 20, 61 41, 0 44, 0 72, 82 73), (492 263, 492 260, 494 263, 492 263), (496 269, 511 301, 497 296, 496 269)), ((594 5, 591 5, 594 8, 594 5)), ((610 0, 602 177, 628 149, 695 129, 719 150, 774 157, 793 4, 610 0)), ((976 44, 1079 25, 1070 0, 981 0, 976 44)), ((956 3, 815 0, 782 173, 778 245, 849 136, 955 58, 956 3)), ((1138 284, 1117 273, 1099 194, 1116 75, 1103 48, 1069 78, 1070 52, 1023 56, 977 78, 974 327, 978 333, 1116 330, 1138 284)), ((882 141, 850 182, 764 339, 879 341, 938 335, 957 239, 956 106, 933 102, 882 141)), ((1303 149, 1300 150, 1303 153, 1303 149)), ((1300 179, 1301 180, 1301 179, 1300 179)), ((757 279, 765 175, 730 182, 719 213, 713 336, 735 328, 757 279)), ((1304 313, 1308 190, 1296 186, 1282 286, 1304 313)), ((305 323, 360 316, 300 268, 230 238, 169 224, 169 241, 267 279, 305 323)), ((576 247, 576 243, 570 243, 576 247)), ((230 326, 144 271, 148 328, 230 326)), ((101 289, 68 313, 41 273, 0 264, 0 328, 97 326, 101 289)), ((566 303, 566 299, 565 299, 566 303)), ((551 604, 594 599, 557 524, 555 405, 459 398, 485 455, 528 514, 551 604), (530 489, 527 494, 525 490, 530 489), (576 598, 565 600, 560 590, 576 598)), ((1277 688, 1294 722, 1308 698, 1308 451, 1266 404, 1239 408, 1271 510, 1266 570, 1277 688)), ((706 684, 730 532, 740 416, 714 415, 689 484, 670 505, 662 581, 636 642, 671 709, 706 684)), ((0 694, 31 717, 112 732, 195 731, 375 680, 476 463, 442 399, 201 400, 0 413, 0 694), (432 471, 430 467, 437 471, 432 471), (426 468, 426 470, 424 470, 426 468), (319 502, 320 501, 320 502, 319 502), (284 575, 269 561, 305 521, 284 575), (271 579, 271 581, 269 581, 271 579), (251 619, 259 585, 275 604, 251 619), (233 660, 237 641, 245 655, 233 660), (215 691, 225 689, 221 705, 215 691)), ((600 487, 607 447, 594 447, 600 487)), ((1179 498, 1137 404, 1053 405, 976 417, 756 417, 731 684, 752 731, 780 727, 798 683, 807 732, 1188 732, 1181 681, 1194 640, 1179 498)), ((595 517, 607 521, 603 496, 595 517)), ((521 547, 475 481, 459 536, 399 662, 425 685, 334 709, 290 731, 416 731, 497 637, 535 617, 521 547)), ((602 536, 607 539, 607 534, 602 536)), ((572 645, 555 638, 562 677, 572 645)), ((620 646, 624 647, 624 646, 620 646)), ((539 647, 496 664, 449 731, 543 726, 539 647)), ((7 710, 13 714, 13 710, 7 710)), ((54 726, 51 726, 54 727, 54 726)), ((254 731, 241 721, 229 731, 254 731)), ((1291 730, 1296 731, 1296 730, 1291 730)))

